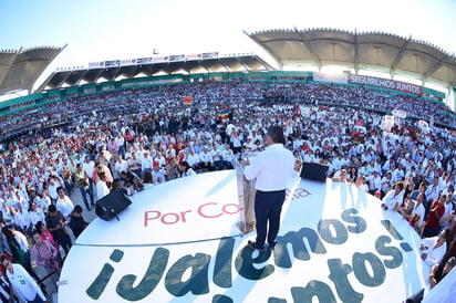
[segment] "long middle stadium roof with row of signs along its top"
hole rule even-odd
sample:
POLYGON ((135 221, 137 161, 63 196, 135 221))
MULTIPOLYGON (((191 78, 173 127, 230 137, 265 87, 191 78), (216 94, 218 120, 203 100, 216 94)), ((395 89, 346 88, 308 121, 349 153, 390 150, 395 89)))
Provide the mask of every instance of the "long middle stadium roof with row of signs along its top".
POLYGON ((219 56, 218 53, 203 53, 112 60, 89 63, 89 69, 55 71, 43 82, 38 92, 137 76, 272 70, 273 67, 261 58, 255 54, 239 53, 224 56, 219 56))

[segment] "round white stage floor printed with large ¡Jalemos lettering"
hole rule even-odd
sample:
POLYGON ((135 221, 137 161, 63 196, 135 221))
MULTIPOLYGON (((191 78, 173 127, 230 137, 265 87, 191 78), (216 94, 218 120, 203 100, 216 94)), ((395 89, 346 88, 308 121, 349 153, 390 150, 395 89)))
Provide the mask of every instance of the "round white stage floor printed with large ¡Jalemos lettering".
POLYGON ((71 249, 59 302, 402 302, 427 292, 419 237, 344 182, 289 179, 274 250, 239 231, 236 173, 180 178, 95 219, 71 249))

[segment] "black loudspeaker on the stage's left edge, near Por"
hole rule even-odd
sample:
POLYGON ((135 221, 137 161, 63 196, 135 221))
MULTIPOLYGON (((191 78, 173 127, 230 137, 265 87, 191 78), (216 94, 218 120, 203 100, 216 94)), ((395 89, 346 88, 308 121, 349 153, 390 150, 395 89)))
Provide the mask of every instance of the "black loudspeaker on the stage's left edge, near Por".
POLYGON ((126 197, 124 189, 114 189, 96 201, 95 213, 105 221, 110 221, 114 217, 118 220, 117 215, 131 203, 132 201, 126 197))

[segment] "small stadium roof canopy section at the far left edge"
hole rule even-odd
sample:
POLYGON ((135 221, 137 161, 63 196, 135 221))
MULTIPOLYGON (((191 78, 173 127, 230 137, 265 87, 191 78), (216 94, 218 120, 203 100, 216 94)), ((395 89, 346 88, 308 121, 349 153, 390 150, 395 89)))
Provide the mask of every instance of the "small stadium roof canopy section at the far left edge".
POLYGON ((31 93, 38 77, 65 46, 0 51, 0 95, 20 90, 31 93))

